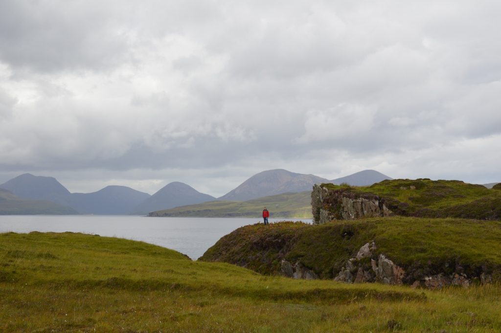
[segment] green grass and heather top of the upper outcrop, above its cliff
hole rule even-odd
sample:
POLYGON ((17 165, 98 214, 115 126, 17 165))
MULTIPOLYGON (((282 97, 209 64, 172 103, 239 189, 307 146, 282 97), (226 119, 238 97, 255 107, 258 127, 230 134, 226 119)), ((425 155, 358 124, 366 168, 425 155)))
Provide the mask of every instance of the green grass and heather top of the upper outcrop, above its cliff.
MULTIPOLYGON (((458 180, 395 179, 365 187, 323 186, 334 192, 378 196, 397 215, 501 219, 500 191, 458 180)), ((336 204, 328 209, 335 210, 336 204)))

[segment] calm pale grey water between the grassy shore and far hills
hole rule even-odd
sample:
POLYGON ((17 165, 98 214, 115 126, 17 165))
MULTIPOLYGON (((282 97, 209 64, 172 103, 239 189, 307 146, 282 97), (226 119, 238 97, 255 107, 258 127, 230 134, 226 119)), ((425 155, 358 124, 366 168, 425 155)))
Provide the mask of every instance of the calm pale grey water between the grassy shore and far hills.
MULTIPOLYGON (((270 222, 310 219, 270 218, 270 222)), ((259 218, 0 215, 0 232, 83 232, 141 240, 199 258, 222 236, 259 218)))

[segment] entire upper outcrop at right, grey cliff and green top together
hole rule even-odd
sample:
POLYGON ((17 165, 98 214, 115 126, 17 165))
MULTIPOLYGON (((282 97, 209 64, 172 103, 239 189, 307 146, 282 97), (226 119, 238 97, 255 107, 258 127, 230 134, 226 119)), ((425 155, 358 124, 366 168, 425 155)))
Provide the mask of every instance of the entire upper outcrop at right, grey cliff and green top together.
POLYGON ((457 180, 430 179, 384 180, 365 187, 314 186, 312 210, 316 221, 364 216, 364 211, 359 212, 364 208, 369 216, 500 220, 501 192, 457 180), (381 213, 374 213, 376 210, 381 213))

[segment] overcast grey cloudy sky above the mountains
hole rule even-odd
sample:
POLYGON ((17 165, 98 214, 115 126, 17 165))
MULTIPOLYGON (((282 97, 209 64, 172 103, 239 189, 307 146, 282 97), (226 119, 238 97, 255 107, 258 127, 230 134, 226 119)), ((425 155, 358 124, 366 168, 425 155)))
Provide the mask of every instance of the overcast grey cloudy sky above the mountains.
POLYGON ((501 2, 0 1, 0 183, 501 181, 501 2))

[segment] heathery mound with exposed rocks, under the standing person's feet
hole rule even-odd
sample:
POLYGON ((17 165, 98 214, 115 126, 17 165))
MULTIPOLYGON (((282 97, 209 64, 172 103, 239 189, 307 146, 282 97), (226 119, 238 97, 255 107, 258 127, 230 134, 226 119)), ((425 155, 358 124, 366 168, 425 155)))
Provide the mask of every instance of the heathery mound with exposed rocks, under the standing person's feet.
POLYGON ((466 287, 499 279, 499 242, 497 221, 397 216, 280 222, 238 228, 199 260, 293 278, 466 287))

